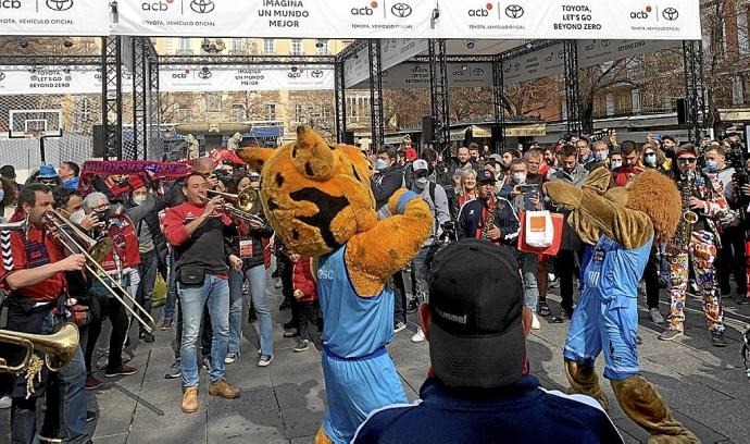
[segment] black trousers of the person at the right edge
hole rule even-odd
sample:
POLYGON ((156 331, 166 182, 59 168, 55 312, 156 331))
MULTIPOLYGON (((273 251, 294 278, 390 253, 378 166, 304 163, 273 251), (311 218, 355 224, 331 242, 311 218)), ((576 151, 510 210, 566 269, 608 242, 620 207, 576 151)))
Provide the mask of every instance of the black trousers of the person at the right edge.
POLYGON ((714 261, 716 279, 722 294, 732 293, 729 273, 735 275, 737 294, 747 294, 748 278, 745 274, 745 227, 727 226, 722 233, 722 248, 714 261))

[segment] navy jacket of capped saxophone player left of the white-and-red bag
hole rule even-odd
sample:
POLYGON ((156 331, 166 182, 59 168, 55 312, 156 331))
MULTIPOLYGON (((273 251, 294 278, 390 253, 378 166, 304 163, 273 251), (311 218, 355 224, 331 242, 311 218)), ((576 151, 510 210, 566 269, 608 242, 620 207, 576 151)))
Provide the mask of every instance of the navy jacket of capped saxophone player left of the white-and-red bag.
MULTIPOLYGON (((485 211, 486 202, 483 199, 470 200, 461 207, 459 212, 459 239, 479 238, 478 231, 484 224, 483 213, 485 211)), ((500 242, 505 245, 514 245, 518 231, 521 230, 521 222, 518 217, 513 211, 511 202, 507 199, 495 198, 495 225, 500 229, 500 242)))

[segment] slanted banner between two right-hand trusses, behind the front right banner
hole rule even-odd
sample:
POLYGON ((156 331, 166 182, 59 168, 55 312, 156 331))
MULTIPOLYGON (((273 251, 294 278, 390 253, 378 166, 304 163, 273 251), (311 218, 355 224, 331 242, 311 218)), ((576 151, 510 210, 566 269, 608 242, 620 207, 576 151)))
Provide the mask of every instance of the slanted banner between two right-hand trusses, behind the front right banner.
POLYGON ((518 55, 502 62, 505 85, 562 73, 565 67, 563 44, 518 55))

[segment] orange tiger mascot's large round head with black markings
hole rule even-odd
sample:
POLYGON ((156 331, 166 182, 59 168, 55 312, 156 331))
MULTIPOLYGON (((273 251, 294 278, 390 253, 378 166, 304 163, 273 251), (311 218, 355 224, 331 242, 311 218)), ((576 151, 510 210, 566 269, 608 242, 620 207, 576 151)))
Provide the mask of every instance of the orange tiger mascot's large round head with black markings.
POLYGON ((277 149, 241 148, 237 156, 261 172, 265 215, 290 250, 317 257, 375 226, 372 166, 351 146, 332 145, 307 126, 277 149))

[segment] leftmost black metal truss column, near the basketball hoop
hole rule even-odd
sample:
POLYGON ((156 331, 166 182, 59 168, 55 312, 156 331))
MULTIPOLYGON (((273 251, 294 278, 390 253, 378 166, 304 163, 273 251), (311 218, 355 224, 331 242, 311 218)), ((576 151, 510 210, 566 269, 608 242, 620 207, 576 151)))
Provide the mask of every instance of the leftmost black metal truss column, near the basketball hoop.
MULTIPOLYGON (((101 39, 101 122, 104 126, 104 160, 123 159, 122 37, 101 39)), ((127 157, 126 157, 127 158, 127 157)))

